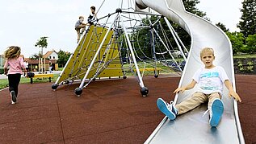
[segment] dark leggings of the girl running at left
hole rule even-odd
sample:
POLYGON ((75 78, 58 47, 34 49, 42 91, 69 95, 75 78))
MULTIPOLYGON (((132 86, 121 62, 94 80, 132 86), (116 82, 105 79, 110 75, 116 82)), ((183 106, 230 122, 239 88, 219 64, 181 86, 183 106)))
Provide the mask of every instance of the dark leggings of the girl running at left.
POLYGON ((8 75, 9 92, 15 91, 16 97, 18 96, 18 86, 19 86, 20 76, 21 76, 20 73, 8 75))

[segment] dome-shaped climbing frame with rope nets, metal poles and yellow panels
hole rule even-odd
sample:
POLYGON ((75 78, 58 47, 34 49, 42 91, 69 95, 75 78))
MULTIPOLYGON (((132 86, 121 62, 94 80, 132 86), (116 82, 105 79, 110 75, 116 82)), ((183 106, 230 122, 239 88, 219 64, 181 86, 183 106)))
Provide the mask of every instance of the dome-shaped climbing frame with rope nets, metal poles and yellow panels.
POLYGON ((170 69, 182 72, 181 64, 186 60, 184 54, 176 56, 178 60, 173 56, 178 46, 170 41, 162 24, 165 22, 163 19, 160 14, 134 12, 129 7, 94 20, 94 25, 83 34, 56 83, 52 84, 52 89, 80 81, 79 88, 75 89, 75 93, 80 96, 82 88, 86 88, 96 78, 126 78, 130 72, 139 81, 141 94, 146 96, 148 88, 142 80, 146 68, 153 68, 154 76, 157 77, 157 67, 166 66, 163 72, 170 72, 170 69))

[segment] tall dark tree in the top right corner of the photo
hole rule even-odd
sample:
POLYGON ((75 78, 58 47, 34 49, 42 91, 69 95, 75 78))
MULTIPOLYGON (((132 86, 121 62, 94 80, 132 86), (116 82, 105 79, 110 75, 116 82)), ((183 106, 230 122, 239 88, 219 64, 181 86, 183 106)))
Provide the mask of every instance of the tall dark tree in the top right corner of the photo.
POLYGON ((241 21, 237 27, 247 37, 256 34, 256 1, 244 0, 241 8, 241 21))

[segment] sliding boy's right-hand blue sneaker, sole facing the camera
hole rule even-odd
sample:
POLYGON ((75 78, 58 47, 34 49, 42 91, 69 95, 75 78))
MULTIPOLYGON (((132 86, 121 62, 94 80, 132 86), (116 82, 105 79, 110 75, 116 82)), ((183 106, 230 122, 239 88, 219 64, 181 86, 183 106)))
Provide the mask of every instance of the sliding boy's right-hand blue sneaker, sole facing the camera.
POLYGON ((219 124, 223 111, 224 105, 219 98, 216 98, 214 101, 212 101, 212 109, 210 111, 209 120, 209 123, 212 127, 216 127, 219 124))

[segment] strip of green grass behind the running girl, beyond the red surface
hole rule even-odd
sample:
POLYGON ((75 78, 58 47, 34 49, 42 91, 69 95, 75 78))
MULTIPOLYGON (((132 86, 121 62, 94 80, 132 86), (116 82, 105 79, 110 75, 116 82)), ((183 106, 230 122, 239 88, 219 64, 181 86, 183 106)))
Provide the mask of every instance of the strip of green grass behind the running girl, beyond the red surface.
MULTIPOLYGON (((59 74, 54 74, 52 81, 56 81, 57 77, 59 74)), ((33 83, 41 83, 41 82, 48 82, 48 78, 43 78, 43 79, 33 79, 33 83)), ((25 84, 25 83, 30 83, 30 78, 27 77, 22 77, 20 79, 19 84, 25 84)), ((0 89, 8 87, 8 79, 0 79, 0 89)))

